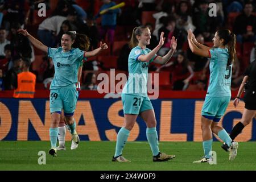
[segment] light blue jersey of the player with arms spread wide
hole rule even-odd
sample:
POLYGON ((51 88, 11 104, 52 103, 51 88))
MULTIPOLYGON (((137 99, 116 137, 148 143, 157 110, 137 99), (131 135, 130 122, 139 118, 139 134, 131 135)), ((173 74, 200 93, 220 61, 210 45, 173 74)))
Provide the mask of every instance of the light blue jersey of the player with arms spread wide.
POLYGON ((71 51, 63 52, 61 47, 48 48, 48 56, 52 58, 55 69, 50 90, 74 85, 77 82, 79 66, 84 60, 84 51, 72 48, 71 51))

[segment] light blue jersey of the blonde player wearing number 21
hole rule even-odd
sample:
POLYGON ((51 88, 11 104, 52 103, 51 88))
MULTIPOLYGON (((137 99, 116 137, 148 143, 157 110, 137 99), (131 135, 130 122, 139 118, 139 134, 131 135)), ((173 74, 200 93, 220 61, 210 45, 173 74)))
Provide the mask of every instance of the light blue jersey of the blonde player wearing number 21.
POLYGON ((138 57, 140 55, 146 55, 150 51, 151 50, 148 48, 142 49, 139 46, 131 49, 128 58, 129 77, 122 93, 147 97, 148 65, 152 63, 157 55, 155 55, 149 62, 140 61, 138 60, 138 57))

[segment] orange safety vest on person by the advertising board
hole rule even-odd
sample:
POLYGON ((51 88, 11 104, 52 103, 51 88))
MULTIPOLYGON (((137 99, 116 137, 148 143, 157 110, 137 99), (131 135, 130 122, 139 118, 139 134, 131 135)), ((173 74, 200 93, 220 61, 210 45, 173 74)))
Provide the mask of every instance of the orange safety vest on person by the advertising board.
POLYGON ((18 88, 14 90, 15 98, 34 98, 36 76, 31 72, 18 74, 18 88))

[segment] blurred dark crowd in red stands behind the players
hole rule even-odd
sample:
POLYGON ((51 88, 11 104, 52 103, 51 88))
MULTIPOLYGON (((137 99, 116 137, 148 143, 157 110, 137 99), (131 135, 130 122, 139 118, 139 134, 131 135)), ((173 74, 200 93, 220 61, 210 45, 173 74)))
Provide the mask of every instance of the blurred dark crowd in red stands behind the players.
POLYGON ((30 72, 36 75, 36 89, 48 89, 54 76, 54 65, 46 53, 36 49, 29 40, 17 34, 27 31, 48 47, 59 47, 61 35, 77 31, 90 38, 90 50, 106 42, 109 49, 84 63, 82 89, 97 90, 97 75, 128 72, 130 53, 128 42, 135 26, 151 30, 148 48, 158 45, 164 32, 166 43, 158 55, 170 49, 172 36, 177 39, 177 51, 166 65, 152 63, 150 73, 159 73, 160 89, 206 90, 209 80, 209 60, 194 55, 187 43, 191 28, 201 44, 213 46, 218 28, 229 28, 237 36, 237 61, 233 67, 232 89, 241 84, 245 68, 255 59, 256 1, 179 1, 179 0, 6 0, 0 1, 0 90, 16 88, 23 61, 30 61, 30 72), (100 11, 125 2, 121 9, 100 11), (210 3, 216 3, 217 16, 209 16, 210 3), (46 5, 46 17, 38 16, 39 3, 46 5))

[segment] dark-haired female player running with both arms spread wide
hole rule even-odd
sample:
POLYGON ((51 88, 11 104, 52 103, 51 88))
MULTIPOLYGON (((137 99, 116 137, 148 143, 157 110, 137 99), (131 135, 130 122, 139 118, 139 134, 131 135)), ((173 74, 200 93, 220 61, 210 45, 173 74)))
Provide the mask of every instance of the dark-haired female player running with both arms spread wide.
POLYGON ((27 36, 30 42, 38 49, 47 52, 52 57, 55 75, 50 86, 50 111, 51 127, 49 136, 51 139, 51 149, 49 154, 56 156, 56 143, 59 133, 58 126, 60 122, 61 109, 64 110, 65 121, 67 122, 72 134, 72 145, 79 143, 79 135, 76 133, 76 122, 73 114, 76 107, 78 93, 76 91, 77 72, 83 60, 86 57, 95 56, 102 49, 107 49, 106 44, 100 44, 100 47, 94 51, 82 51, 88 47, 89 39, 83 34, 76 32, 67 32, 61 38, 61 47, 49 48, 39 40, 28 34, 26 30, 19 29, 18 32, 27 36), (77 48, 73 48, 75 45, 77 48), (81 49, 80 49, 81 48, 81 49))

